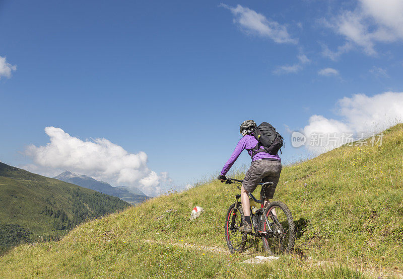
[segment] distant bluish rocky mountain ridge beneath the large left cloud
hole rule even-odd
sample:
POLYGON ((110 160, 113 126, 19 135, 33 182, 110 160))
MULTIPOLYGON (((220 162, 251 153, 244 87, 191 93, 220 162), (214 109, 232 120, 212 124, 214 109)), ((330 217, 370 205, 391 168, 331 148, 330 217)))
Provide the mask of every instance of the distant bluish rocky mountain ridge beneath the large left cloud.
POLYGON ((125 186, 112 187, 107 182, 98 181, 90 176, 74 173, 67 170, 53 178, 59 179, 64 182, 73 183, 88 189, 92 189, 106 195, 118 197, 132 205, 137 205, 147 199, 150 199, 150 197, 146 196, 137 188, 129 188, 125 186))

